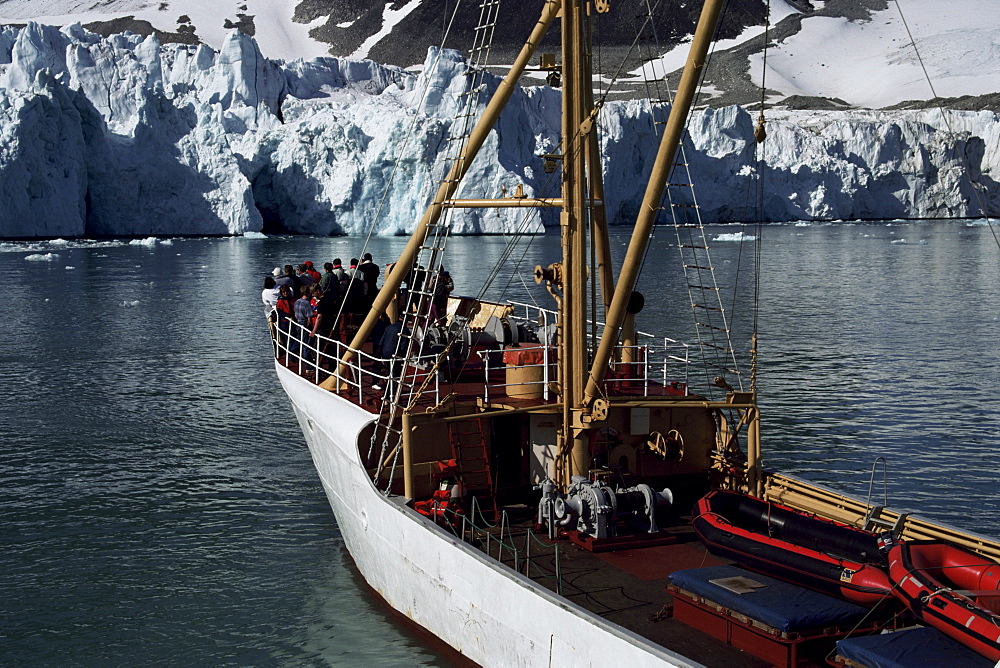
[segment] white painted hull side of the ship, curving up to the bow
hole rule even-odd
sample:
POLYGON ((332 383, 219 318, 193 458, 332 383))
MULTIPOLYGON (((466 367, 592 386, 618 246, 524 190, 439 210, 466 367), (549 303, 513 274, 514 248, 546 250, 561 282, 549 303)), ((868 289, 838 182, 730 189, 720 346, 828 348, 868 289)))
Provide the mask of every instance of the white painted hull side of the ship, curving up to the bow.
POLYGON ((375 416, 276 364, 347 549, 368 584, 484 666, 695 666, 557 597, 386 497, 360 460, 375 416))

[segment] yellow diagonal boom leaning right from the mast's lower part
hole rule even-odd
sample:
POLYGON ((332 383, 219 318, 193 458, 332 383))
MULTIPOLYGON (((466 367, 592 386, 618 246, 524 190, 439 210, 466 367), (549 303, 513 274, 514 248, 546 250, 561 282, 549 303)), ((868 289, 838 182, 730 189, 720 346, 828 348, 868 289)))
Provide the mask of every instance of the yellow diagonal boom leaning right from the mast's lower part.
POLYGON ((684 66, 684 74, 681 76, 674 104, 670 108, 670 117, 660 140, 660 148, 656 154, 653 171, 646 185, 646 193, 642 200, 639 216, 636 219, 635 228, 632 231, 632 239, 629 242, 625 261, 622 264, 618 286, 615 288, 614 298, 608 309, 607 324, 604 327, 601 343, 590 368, 590 379, 584 396, 584 404, 587 407, 592 406, 601 393, 601 383, 604 381, 611 354, 618 342, 629 298, 632 291, 635 290, 635 284, 639 278, 639 267, 649 246, 650 233, 656 222, 656 214, 660 208, 660 201, 663 199, 667 178, 670 176, 674 156, 680 145, 681 134, 694 102, 695 91, 701 78, 701 70, 705 65, 705 56, 708 54, 712 37, 715 35, 722 5, 723 0, 705 0, 705 5, 702 7, 698 27, 691 42, 691 51, 688 53, 687 63, 684 66))

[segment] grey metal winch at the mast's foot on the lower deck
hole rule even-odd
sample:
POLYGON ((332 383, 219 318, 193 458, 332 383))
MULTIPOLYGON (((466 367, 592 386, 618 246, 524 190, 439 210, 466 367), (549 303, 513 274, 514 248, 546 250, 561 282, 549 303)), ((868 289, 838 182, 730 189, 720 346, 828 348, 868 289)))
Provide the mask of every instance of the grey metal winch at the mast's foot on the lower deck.
POLYGON ((538 489, 542 491, 538 523, 548 528, 550 539, 556 537, 558 528, 575 529, 598 540, 613 538, 618 535, 618 520, 638 526, 646 533, 659 533, 656 509, 669 506, 674 500, 667 488, 657 492, 649 485, 639 484, 613 489, 583 476, 573 476, 566 494, 559 494, 549 478, 538 489))

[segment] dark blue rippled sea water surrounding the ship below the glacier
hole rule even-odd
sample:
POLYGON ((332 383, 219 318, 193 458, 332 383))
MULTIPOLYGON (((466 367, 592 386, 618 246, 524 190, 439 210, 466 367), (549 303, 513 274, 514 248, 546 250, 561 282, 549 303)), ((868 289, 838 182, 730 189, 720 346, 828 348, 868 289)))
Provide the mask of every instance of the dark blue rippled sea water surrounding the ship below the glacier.
MULTIPOLYGON (((991 229, 708 236, 744 387, 758 322, 765 464, 864 498, 884 457, 877 502, 887 491, 894 506, 1000 536, 991 229)), ((456 292, 479 294, 496 268, 484 295, 552 306, 531 273, 558 260, 558 238, 508 241, 450 240, 456 292)), ((404 243, 365 250, 384 265, 404 243)), ((616 262, 627 243, 613 236, 616 262)), ((0 244, 0 664, 446 664, 364 586, 269 358, 264 276, 346 264, 363 244, 0 244)), ((639 325, 693 341, 679 257, 658 230, 639 325)))

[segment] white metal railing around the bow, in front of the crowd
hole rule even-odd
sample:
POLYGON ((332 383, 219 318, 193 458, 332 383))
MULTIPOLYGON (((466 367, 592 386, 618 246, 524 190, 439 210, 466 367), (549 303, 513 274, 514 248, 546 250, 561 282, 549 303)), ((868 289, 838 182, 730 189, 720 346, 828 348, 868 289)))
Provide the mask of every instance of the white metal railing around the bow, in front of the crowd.
MULTIPOLYGON (((329 336, 310 336, 310 331, 308 326, 291 318, 280 324, 272 322, 271 340, 275 359, 317 385, 330 377, 335 378, 337 392, 350 396, 358 404, 364 402, 366 392, 368 398, 381 397, 383 392, 395 389, 396 383, 402 384, 403 400, 406 400, 408 389, 424 385, 437 361, 436 355, 424 355, 410 358, 404 366, 401 359, 386 359, 357 351, 345 364, 341 359, 348 350, 346 343, 329 336)), ((424 396, 440 402, 438 375, 435 373, 426 385, 424 396)))

